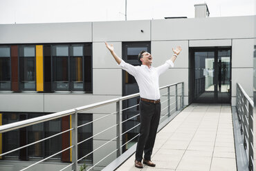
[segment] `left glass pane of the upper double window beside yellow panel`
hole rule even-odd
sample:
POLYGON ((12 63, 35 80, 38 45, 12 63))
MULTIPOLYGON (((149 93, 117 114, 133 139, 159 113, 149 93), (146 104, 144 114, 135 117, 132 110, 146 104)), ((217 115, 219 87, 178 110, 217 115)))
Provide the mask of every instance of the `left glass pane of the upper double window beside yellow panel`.
POLYGON ((53 85, 68 91, 68 46, 53 46, 53 85))

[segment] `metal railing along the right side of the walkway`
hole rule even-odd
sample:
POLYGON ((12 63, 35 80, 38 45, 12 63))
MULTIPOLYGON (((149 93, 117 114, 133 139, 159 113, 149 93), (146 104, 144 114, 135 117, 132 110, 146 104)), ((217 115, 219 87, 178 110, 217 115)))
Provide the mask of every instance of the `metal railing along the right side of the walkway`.
POLYGON ((244 150, 248 161, 248 169, 253 170, 253 100, 248 97, 244 89, 237 83, 237 115, 240 124, 241 135, 244 141, 244 150))

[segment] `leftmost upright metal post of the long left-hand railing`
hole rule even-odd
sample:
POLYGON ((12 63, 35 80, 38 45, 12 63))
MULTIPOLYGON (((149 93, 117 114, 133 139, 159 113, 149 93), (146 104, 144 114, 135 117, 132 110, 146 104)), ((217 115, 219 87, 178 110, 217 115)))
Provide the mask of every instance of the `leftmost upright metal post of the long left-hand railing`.
POLYGON ((71 124, 72 124, 72 135, 71 135, 71 141, 73 148, 72 149, 72 170, 78 171, 77 168, 77 110, 75 109, 75 113, 71 115, 71 124))

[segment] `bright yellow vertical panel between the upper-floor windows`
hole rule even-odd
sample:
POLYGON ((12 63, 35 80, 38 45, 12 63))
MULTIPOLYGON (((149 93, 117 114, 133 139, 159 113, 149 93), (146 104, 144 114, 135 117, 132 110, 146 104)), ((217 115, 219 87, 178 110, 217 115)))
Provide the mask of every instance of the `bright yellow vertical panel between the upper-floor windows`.
POLYGON ((37 92, 44 91, 44 58, 43 46, 36 46, 37 92))

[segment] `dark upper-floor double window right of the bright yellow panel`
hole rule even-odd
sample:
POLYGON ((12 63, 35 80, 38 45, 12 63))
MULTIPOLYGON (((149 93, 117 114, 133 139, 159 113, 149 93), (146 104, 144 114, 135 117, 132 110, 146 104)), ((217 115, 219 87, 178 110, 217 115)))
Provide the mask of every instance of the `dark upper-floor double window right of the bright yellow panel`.
POLYGON ((53 46, 53 89, 91 92, 91 44, 53 46))

